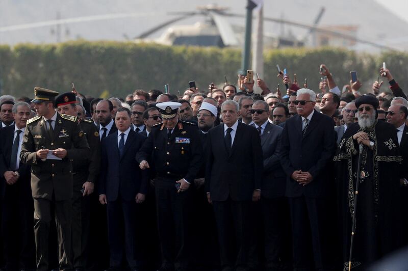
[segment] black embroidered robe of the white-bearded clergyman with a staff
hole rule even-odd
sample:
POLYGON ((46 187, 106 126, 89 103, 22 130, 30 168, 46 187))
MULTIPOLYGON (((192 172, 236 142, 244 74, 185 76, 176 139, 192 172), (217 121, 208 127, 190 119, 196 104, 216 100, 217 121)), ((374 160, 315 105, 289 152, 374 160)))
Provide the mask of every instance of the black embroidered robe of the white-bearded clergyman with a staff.
MULTIPOLYGON (((399 155, 394 126, 379 121, 361 129, 358 123, 347 128, 334 157, 337 169, 339 224, 343 236, 343 262, 348 264, 359 145, 352 136, 365 131, 374 142, 364 147, 356 211, 352 262, 356 270, 399 247, 399 155)), ((405 229, 406 230, 406 229, 405 229)))

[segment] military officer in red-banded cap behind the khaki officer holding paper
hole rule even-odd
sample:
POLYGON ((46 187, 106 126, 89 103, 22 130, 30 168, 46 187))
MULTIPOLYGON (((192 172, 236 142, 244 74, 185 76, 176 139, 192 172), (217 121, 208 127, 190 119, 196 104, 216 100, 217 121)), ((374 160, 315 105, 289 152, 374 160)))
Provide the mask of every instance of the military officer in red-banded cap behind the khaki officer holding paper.
MULTIPOLYGON (((57 112, 64 115, 77 115, 77 97, 72 92, 63 93, 55 99, 57 112)), ((94 182, 100 169, 99 133, 93 120, 77 119, 91 151, 89 157, 72 161, 72 265, 75 271, 85 268, 85 249, 88 243, 90 197, 94 182)))

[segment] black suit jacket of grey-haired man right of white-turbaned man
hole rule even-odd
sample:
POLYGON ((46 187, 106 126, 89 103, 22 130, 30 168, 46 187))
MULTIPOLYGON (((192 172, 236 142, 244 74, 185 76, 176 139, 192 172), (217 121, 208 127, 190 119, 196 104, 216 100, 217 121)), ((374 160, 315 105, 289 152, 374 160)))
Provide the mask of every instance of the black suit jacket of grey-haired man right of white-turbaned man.
POLYGON ((214 201, 251 200, 262 184, 262 148, 257 129, 238 123, 231 154, 225 147, 224 125, 209 130, 206 144, 206 190, 214 201))

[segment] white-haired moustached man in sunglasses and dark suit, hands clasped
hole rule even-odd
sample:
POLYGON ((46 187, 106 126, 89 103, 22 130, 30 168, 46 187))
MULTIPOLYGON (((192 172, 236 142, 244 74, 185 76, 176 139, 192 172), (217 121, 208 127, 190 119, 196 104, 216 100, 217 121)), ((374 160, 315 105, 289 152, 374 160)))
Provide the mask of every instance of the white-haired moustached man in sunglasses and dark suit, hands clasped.
POLYGON ((329 247, 333 232, 329 234, 325 221, 335 209, 328 204, 333 196, 330 161, 336 150, 335 131, 333 120, 314 110, 315 100, 312 90, 298 90, 298 115, 286 121, 282 132, 281 163, 287 175, 294 268, 304 270, 333 267, 329 247))

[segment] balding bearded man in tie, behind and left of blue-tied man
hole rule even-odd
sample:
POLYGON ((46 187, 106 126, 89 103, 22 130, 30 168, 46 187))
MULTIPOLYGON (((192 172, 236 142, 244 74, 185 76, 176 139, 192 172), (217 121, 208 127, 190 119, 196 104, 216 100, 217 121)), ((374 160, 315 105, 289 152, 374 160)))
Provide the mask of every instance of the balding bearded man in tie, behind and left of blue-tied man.
POLYGON ((118 130, 114 120, 112 119, 114 111, 113 103, 110 100, 100 100, 96 104, 95 114, 99 122, 98 131, 100 140, 103 140, 109 134, 112 134, 118 130))

